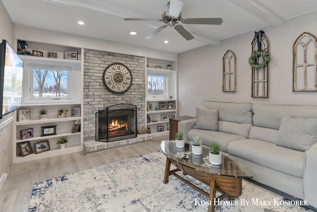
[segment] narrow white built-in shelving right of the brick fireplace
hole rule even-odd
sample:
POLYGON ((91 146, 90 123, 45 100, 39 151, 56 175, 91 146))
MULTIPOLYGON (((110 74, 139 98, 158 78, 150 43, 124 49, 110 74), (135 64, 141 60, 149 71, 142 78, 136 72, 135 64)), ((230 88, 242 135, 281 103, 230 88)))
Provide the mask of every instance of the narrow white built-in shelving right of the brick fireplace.
POLYGON ((152 75, 166 77, 164 95, 150 95, 146 91, 147 127, 151 133, 168 133, 169 118, 177 116, 176 70, 176 62, 147 58, 147 78, 152 75))

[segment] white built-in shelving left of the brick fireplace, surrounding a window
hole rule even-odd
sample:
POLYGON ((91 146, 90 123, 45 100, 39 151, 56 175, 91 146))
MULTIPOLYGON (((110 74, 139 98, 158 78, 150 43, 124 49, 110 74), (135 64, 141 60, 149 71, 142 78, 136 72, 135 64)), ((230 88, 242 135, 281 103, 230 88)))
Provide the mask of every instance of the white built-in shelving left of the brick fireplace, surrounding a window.
MULTIPOLYGON (((74 123, 83 123, 83 61, 81 55, 83 55, 82 48, 66 47, 66 46, 57 46, 50 44, 42 44, 36 42, 27 42, 28 49, 32 53, 32 50, 43 52, 43 57, 35 56, 24 56, 20 55, 21 59, 25 63, 24 78, 28 80, 28 64, 39 63, 48 65, 65 65, 72 67, 71 77, 71 97, 70 99, 61 100, 53 99, 49 101, 36 100, 32 102, 26 101, 24 99, 22 107, 14 112, 14 122, 13 122, 13 163, 21 163, 25 161, 42 159, 47 157, 52 157, 61 154, 67 154, 83 150, 83 126, 80 126, 80 130, 72 133, 74 123), (65 60, 63 59, 64 51, 74 51, 78 54, 77 60, 65 60), (48 58, 49 52, 57 53, 57 58, 48 58), (42 102, 41 102, 42 101, 42 102), (47 109, 47 119, 40 119, 39 110, 45 108, 47 109), (77 108, 79 114, 77 113, 72 117, 71 111, 72 108, 77 108), (21 110, 31 110, 31 119, 26 121, 21 121, 19 119, 19 111, 21 110), (68 111, 67 117, 58 118, 59 111, 65 110, 68 111), (43 136, 42 127, 56 126, 55 133, 56 135, 43 136), (33 129, 33 135, 27 139, 20 138, 20 131, 33 129), (56 142, 62 138, 66 137, 68 142, 66 143, 66 148, 60 149, 59 144, 56 142), (33 150, 33 153, 21 156, 18 144, 21 142, 28 141, 30 147, 33 150), (50 145, 50 150, 40 151, 36 153, 34 143, 48 141, 50 145)), ((27 82, 26 82, 27 84, 27 82)), ((26 93, 29 92, 29 88, 25 86, 23 98, 29 97, 32 94, 26 93)))

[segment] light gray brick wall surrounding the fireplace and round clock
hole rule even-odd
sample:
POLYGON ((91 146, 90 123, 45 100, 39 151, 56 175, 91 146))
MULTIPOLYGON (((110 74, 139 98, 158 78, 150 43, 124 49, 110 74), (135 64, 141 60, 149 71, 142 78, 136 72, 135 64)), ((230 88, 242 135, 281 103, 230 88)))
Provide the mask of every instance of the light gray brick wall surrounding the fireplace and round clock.
POLYGON ((145 58, 97 50, 84 50, 84 141, 95 140, 95 113, 113 104, 138 108, 138 126, 145 125, 145 58), (103 72, 112 63, 122 63, 132 73, 132 85, 122 94, 112 93, 103 82, 103 72))

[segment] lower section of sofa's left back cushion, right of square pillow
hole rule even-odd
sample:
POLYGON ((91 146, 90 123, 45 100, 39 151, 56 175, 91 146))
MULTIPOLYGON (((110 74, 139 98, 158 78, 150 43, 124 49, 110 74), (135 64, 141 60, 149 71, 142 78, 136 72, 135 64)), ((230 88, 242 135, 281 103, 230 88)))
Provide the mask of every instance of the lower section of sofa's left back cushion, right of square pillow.
POLYGON ((238 124, 234 122, 219 121, 219 132, 236 134, 248 138, 252 124, 238 124))

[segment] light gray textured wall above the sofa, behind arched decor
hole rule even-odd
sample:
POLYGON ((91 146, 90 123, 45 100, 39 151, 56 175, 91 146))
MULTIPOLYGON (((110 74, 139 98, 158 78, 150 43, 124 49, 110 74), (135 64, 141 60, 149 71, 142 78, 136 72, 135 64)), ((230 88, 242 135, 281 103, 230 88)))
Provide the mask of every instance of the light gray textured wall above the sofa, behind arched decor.
POLYGON ((178 115, 196 115, 204 100, 317 104, 316 92, 292 92, 292 47, 303 32, 317 36, 317 11, 285 20, 279 27, 265 26, 178 55, 178 115), (254 32, 263 30, 270 42, 269 98, 251 97, 248 58, 254 32), (237 57, 237 91, 222 92, 222 57, 231 50, 237 57))

